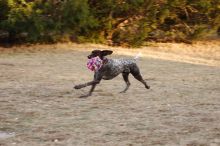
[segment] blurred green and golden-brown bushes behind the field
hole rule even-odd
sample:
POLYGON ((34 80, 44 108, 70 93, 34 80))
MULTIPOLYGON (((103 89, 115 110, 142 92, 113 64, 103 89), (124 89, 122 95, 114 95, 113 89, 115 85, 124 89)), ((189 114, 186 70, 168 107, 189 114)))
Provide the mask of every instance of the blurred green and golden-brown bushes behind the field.
POLYGON ((220 34, 219 0, 0 0, 0 41, 139 46, 220 34))

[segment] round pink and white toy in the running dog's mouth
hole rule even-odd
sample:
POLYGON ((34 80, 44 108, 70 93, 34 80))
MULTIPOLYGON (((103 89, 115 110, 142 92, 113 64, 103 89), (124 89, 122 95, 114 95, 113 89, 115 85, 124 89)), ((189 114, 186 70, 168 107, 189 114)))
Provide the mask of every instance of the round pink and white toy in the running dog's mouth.
POLYGON ((97 71, 102 67, 103 61, 97 56, 91 58, 87 62, 87 68, 91 71, 97 71))

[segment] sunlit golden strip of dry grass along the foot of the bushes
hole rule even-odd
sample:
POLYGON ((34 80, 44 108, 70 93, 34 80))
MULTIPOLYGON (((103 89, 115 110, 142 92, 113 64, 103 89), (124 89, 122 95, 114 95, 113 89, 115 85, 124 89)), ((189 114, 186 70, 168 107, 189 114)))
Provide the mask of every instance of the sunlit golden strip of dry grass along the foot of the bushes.
POLYGON ((192 45, 184 43, 151 43, 148 47, 122 48, 109 47, 98 44, 54 44, 54 45, 29 45, 1 48, 0 52, 62 52, 68 50, 88 51, 92 49, 111 49, 114 54, 134 56, 141 52, 144 57, 159 58, 178 62, 220 66, 220 40, 197 41, 192 45))

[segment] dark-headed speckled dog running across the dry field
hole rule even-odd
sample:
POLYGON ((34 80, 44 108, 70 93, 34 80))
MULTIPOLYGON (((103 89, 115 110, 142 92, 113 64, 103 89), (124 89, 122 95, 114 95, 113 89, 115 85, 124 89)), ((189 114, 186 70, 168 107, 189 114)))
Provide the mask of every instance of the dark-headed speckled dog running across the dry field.
POLYGON ((92 95, 95 86, 100 83, 102 79, 110 80, 122 73, 123 79, 126 83, 126 88, 121 92, 124 93, 128 90, 130 82, 128 80, 128 75, 131 73, 135 79, 144 84, 145 88, 150 89, 150 86, 143 80, 140 70, 136 64, 136 59, 108 59, 105 56, 112 54, 111 50, 93 50, 88 56, 89 59, 99 56, 103 61, 102 67, 95 71, 94 80, 84 84, 79 84, 74 86, 75 89, 81 89, 86 86, 92 85, 89 93, 80 97, 88 97, 92 95))

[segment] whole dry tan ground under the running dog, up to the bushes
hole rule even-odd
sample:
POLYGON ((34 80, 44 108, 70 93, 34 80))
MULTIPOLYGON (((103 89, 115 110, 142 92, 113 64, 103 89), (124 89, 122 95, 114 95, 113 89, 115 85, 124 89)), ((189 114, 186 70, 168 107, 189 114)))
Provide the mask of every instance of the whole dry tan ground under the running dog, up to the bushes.
POLYGON ((207 47, 112 48, 110 58, 142 52, 137 64, 151 89, 130 76, 120 94, 118 76, 86 99, 78 97, 89 87, 73 86, 92 80, 85 64, 94 45, 7 48, 0 54, 0 146, 219 146, 220 48, 207 47))

